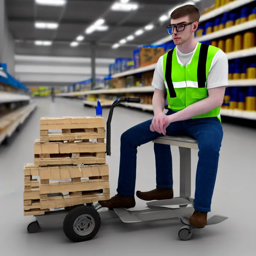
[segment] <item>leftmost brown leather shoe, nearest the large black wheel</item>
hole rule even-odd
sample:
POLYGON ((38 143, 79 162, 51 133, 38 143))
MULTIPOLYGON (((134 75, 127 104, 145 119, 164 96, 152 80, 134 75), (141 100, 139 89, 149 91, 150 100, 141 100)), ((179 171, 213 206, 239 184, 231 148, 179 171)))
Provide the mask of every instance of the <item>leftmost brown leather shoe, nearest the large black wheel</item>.
POLYGON ((106 208, 133 208, 136 205, 135 197, 121 196, 119 194, 111 197, 109 200, 99 201, 102 207, 106 208))

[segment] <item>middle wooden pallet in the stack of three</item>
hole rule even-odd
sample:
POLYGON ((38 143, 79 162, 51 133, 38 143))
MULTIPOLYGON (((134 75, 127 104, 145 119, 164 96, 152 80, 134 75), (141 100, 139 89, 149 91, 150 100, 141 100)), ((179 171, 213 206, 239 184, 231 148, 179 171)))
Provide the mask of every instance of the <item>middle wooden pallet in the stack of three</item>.
POLYGON ((35 141, 35 164, 104 164, 106 144, 91 142, 46 142, 35 141))

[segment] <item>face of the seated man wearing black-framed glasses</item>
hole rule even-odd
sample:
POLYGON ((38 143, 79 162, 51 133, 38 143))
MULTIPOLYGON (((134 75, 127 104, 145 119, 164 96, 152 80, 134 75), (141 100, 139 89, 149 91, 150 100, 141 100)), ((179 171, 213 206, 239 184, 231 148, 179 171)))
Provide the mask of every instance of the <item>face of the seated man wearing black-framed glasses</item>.
POLYGON ((191 22, 192 21, 189 20, 189 16, 184 16, 179 19, 171 19, 171 25, 179 24, 177 25, 177 29, 175 27, 172 33, 172 39, 175 45, 184 44, 189 40, 192 33, 194 32, 193 28, 195 27, 195 23, 187 25, 188 23, 191 23, 191 22), (179 30, 183 30, 183 29, 184 31, 179 32, 179 30))

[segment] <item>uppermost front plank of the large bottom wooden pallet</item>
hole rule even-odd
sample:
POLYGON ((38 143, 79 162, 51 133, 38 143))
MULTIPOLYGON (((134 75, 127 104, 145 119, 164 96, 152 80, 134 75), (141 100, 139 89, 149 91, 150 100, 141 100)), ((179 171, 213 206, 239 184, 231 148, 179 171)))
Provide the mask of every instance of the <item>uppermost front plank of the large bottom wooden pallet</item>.
POLYGON ((109 167, 108 164, 39 167, 39 174, 41 180, 62 180, 83 177, 107 176, 109 175, 109 167))

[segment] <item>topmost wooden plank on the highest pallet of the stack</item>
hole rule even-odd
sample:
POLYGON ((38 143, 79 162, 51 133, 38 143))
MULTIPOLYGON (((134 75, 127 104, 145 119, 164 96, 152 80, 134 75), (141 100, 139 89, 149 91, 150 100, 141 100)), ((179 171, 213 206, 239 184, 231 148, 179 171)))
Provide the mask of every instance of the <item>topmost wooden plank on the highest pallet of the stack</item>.
POLYGON ((105 127, 105 120, 102 117, 46 117, 40 119, 40 130, 103 127, 105 127))

